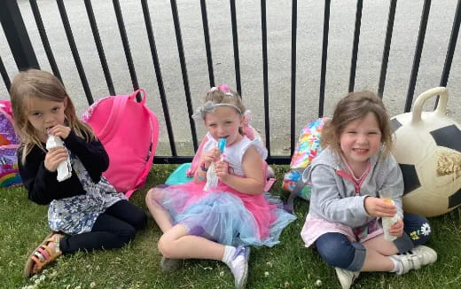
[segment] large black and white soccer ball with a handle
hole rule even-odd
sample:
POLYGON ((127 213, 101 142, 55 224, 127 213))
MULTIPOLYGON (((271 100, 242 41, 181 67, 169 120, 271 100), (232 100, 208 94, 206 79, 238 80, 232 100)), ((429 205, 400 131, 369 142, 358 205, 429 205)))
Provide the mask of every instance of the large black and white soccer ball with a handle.
POLYGON ((442 215, 461 204, 461 126, 446 115, 447 100, 445 88, 427 90, 416 99, 413 112, 391 118, 405 212, 442 215), (434 112, 422 112, 424 101, 437 95, 434 112))

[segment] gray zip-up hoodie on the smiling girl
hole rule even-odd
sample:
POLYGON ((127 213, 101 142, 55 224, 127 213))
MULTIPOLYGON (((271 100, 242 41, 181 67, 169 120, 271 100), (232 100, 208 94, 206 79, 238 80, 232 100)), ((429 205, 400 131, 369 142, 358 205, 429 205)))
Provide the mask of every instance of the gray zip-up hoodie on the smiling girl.
POLYGON ((394 156, 371 157, 371 168, 361 184, 356 184, 340 156, 326 148, 303 173, 303 181, 312 182, 309 215, 332 223, 356 228, 373 219, 367 214, 364 199, 378 197, 379 191, 392 191, 397 214, 402 218, 403 178, 394 156))

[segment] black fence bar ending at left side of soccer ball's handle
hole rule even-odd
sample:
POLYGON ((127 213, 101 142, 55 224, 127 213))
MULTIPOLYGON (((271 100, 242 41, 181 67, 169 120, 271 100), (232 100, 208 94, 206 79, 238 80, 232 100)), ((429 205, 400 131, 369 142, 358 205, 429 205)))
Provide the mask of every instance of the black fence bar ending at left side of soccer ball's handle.
POLYGON ((410 112, 411 103, 413 102, 413 95, 415 93, 416 81, 418 79, 419 61, 421 60, 421 53, 423 51, 424 37, 426 35, 427 19, 429 18, 429 11, 431 10, 431 0, 425 0, 423 12, 421 14, 421 21, 419 23, 418 42, 416 45, 415 58, 413 59, 413 67, 411 68, 410 85, 407 92, 407 100, 405 101, 405 113, 410 112))

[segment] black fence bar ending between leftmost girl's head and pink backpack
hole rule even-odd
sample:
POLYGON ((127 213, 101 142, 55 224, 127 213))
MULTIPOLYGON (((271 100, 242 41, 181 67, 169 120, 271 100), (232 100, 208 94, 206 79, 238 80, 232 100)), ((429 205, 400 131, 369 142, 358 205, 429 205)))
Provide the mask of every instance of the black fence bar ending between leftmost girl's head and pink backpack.
POLYGON ((91 105, 94 100, 91 96, 90 86, 83 70, 82 60, 77 51, 77 46, 75 45, 74 35, 72 34, 72 28, 70 27, 69 20, 67 18, 66 7, 64 6, 63 0, 56 0, 58 4, 59 14, 61 15, 62 24, 64 25, 64 30, 66 31, 67 42, 69 43, 70 50, 72 51, 72 56, 74 57, 75 66, 77 67, 77 72, 80 75, 80 80, 82 81, 83 90, 85 91, 85 96, 88 100, 88 104, 91 105))

